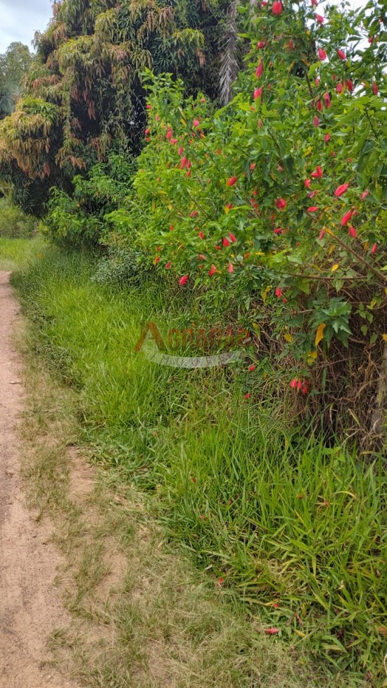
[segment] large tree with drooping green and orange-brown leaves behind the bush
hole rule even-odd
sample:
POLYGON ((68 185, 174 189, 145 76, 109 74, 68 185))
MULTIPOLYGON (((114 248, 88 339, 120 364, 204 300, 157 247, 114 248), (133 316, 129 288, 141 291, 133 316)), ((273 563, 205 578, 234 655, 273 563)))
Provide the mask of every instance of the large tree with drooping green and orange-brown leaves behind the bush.
POLYGON ((51 186, 70 190, 75 172, 112 149, 139 151, 145 68, 180 75, 187 92, 200 85, 214 96, 227 5, 56 3, 49 28, 37 35, 26 97, 0 127, 0 173, 15 184, 15 200, 42 213, 51 186))

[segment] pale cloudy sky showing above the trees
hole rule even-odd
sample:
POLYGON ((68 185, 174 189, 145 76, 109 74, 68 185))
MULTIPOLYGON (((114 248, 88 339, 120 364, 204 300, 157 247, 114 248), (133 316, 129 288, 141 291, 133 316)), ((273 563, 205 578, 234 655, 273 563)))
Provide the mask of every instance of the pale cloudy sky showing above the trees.
MULTIPOLYGON (((361 7, 365 1, 350 0, 350 4, 361 7)), ((31 48, 34 32, 44 31, 51 16, 51 0, 0 0, 0 53, 13 41, 31 48)))

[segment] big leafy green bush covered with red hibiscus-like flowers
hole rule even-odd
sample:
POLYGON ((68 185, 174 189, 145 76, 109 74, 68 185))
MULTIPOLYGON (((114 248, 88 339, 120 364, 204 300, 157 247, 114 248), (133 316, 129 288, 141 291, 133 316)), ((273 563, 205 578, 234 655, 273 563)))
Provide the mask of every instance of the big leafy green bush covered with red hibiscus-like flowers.
MULTIPOLYGON (((312 389, 310 406, 323 404, 330 423, 336 414, 343 422, 344 398, 358 429, 379 432, 387 287, 381 8, 331 8, 324 20, 313 6, 273 10, 255 14, 229 106, 213 113, 203 94, 186 99, 182 83, 153 79, 134 189, 113 212, 107 206, 94 236, 136 247, 149 266, 200 290, 212 311, 238 316, 252 329, 261 367, 274 348, 295 396, 312 389)), ((80 220, 53 208, 53 237, 74 242, 80 220)))

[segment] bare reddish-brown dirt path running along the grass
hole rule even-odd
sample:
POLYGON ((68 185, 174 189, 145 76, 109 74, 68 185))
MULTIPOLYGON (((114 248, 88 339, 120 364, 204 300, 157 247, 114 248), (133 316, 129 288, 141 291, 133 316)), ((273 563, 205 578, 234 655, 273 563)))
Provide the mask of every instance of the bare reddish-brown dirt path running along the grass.
POLYGON ((47 635, 67 618, 53 587, 58 553, 49 525, 24 505, 15 430, 23 386, 11 342, 18 304, 9 275, 0 271, 0 687, 70 688, 41 666, 47 635))

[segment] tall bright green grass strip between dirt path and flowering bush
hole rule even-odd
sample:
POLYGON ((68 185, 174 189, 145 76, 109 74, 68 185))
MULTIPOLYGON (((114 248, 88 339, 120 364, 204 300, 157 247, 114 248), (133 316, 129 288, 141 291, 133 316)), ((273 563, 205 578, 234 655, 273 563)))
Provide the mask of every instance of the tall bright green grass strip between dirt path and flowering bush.
POLYGON ((243 376, 226 369, 148 363, 134 351, 144 320, 168 329, 200 318, 200 304, 151 280, 103 288, 94 270, 51 249, 15 277, 37 353, 76 390, 94 456, 148 493, 170 538, 252 623, 278 627, 294 656, 307 650, 330 685, 366 674, 380 685, 381 456, 325 446, 284 420, 278 396, 246 401, 243 376))

